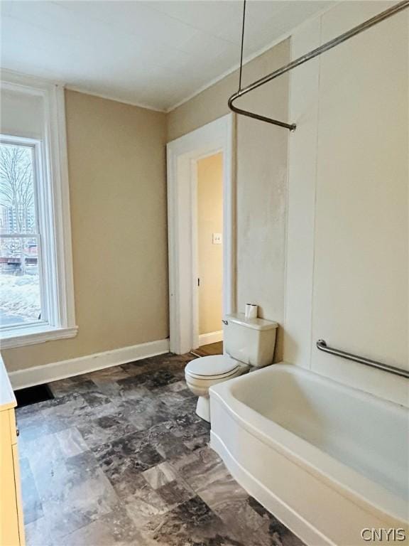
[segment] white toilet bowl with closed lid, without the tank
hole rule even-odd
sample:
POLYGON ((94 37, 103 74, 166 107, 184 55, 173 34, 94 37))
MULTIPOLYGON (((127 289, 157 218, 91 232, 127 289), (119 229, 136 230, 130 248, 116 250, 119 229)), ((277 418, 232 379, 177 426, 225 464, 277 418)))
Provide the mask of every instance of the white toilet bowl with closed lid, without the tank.
POLYGON ((210 422, 209 388, 222 381, 236 378, 249 369, 229 355, 202 356, 191 360, 185 368, 187 387, 196 395, 196 413, 210 422))

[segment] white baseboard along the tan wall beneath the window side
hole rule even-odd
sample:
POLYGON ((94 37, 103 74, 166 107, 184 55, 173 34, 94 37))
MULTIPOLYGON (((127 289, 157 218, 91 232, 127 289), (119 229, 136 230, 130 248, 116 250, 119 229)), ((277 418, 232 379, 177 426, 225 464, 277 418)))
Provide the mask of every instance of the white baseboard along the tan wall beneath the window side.
POLYGON ((149 356, 163 355, 168 351, 169 340, 160 339, 120 349, 107 350, 104 353, 94 353, 70 360, 61 360, 60 362, 27 368, 26 370, 16 370, 9 372, 9 378, 14 390, 23 389, 59 379, 71 378, 82 373, 95 372, 119 364, 126 364, 149 356))

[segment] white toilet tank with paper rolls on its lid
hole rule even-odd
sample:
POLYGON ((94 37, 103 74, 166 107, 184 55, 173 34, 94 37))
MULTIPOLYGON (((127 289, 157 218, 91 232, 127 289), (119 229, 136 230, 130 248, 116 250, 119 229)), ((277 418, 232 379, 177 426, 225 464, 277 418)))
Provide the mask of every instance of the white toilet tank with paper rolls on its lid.
POLYGON ((265 319, 246 319, 244 313, 227 315, 223 321, 224 350, 231 358, 261 368, 273 362, 278 324, 265 319))

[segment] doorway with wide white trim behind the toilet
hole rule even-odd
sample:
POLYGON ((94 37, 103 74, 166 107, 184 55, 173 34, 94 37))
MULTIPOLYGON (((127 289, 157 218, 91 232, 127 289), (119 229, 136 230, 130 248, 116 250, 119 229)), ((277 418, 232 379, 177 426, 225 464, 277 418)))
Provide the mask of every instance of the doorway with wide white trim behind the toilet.
POLYGON ((183 354, 222 341, 234 307, 231 114, 170 142, 167 154, 170 350, 183 354))

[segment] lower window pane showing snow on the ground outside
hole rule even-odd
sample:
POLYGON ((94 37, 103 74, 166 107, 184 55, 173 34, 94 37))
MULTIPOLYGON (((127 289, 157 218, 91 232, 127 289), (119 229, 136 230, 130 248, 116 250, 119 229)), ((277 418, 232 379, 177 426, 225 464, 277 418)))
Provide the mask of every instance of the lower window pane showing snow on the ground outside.
POLYGON ((40 320, 37 237, 0 237, 0 326, 40 320))

